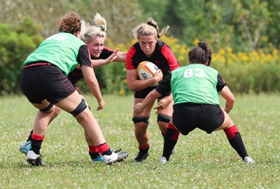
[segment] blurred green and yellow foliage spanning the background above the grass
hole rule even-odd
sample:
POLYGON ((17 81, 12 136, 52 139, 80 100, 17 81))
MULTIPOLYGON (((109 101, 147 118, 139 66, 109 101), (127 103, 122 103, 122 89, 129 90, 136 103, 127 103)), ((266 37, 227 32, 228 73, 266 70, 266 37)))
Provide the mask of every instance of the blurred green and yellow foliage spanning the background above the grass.
MULTIPOLYGON (((57 18, 70 11, 88 22, 101 13, 108 25, 106 45, 123 51, 135 42, 132 28, 154 18, 160 28, 170 26, 161 39, 181 65, 188 64, 188 50, 197 41, 207 41, 216 57, 213 66, 232 91, 280 91, 280 1, 0 0, 0 9, 0 95, 20 92, 22 62, 43 38, 57 32, 57 18)), ((109 64, 95 73, 103 92, 130 93, 125 64, 109 64)), ((84 82, 80 87, 88 91, 84 82)))

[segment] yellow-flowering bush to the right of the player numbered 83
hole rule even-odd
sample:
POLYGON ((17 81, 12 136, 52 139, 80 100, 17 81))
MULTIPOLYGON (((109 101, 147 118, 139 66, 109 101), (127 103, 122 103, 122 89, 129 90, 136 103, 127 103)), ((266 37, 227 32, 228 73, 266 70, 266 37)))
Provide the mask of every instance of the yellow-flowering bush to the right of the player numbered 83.
POLYGON ((279 92, 279 50, 237 52, 230 48, 214 53, 212 64, 233 92, 279 92))

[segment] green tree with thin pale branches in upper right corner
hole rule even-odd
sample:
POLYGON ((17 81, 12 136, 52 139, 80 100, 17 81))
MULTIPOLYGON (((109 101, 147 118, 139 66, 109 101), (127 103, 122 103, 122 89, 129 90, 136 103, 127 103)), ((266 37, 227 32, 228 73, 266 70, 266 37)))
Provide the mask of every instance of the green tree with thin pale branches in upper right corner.
POLYGON ((244 50, 255 50, 267 46, 265 38, 268 38, 268 26, 272 20, 267 1, 235 0, 232 2, 235 6, 232 24, 235 25, 236 42, 242 44, 245 47, 244 50))

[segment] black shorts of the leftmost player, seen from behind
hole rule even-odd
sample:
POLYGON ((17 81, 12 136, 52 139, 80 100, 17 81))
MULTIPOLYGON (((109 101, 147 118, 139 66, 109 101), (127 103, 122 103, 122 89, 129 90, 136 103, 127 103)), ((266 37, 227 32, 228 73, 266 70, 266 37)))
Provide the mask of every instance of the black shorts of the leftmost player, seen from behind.
POLYGON ((62 70, 54 65, 22 69, 20 86, 33 104, 41 104, 43 99, 56 104, 76 91, 62 70))

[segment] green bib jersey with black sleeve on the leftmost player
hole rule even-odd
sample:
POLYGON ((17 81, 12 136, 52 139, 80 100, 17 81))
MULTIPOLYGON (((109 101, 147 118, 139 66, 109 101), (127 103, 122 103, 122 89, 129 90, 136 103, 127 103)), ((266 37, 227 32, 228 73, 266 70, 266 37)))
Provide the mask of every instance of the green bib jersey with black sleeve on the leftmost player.
POLYGON ((46 38, 27 57, 24 65, 31 62, 50 62, 68 75, 78 64, 91 66, 87 45, 73 34, 60 32, 46 38))

